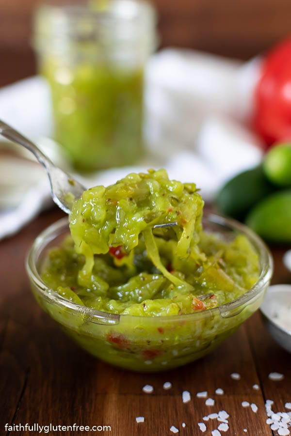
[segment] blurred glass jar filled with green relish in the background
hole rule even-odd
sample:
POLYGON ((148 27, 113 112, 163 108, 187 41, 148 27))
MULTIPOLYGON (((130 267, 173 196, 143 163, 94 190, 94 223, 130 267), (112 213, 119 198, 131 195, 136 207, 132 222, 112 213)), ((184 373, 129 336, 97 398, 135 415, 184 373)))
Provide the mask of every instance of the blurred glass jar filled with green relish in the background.
POLYGON ((38 10, 33 43, 51 88, 55 140, 75 169, 129 165, 142 155, 155 25, 152 6, 139 0, 38 10))

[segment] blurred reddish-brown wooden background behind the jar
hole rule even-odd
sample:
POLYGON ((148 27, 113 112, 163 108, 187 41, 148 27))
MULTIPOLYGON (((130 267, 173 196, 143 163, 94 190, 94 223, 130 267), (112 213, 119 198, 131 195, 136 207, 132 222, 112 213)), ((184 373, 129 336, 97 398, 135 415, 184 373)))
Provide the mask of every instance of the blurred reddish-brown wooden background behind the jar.
MULTIPOLYGON (((0 86, 35 73, 32 15, 43 0, 0 0, 0 86)), ((87 0, 46 0, 47 3, 87 0)), ((290 34, 290 0, 152 0, 162 47, 249 59, 290 34)))

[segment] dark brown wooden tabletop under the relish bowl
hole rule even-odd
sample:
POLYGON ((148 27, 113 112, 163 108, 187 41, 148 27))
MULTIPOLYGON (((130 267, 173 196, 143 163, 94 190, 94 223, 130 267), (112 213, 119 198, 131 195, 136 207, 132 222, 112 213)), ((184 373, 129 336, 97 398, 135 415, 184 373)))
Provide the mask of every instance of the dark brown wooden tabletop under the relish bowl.
MULTIPOLYGON (((264 404, 274 400, 277 412, 291 402, 291 356, 273 342, 258 312, 210 356, 160 374, 134 374, 102 363, 60 331, 32 297, 24 258, 35 236, 61 216, 53 209, 0 242, 0 434, 37 434, 6 432, 5 423, 76 423, 110 425, 111 432, 49 434, 164 436, 173 435, 174 425, 178 435, 211 435, 217 420, 205 422, 206 433, 197 423, 211 412, 226 410, 229 431, 222 435, 272 435, 264 404), (270 380, 271 372, 284 374, 284 380, 270 380), (241 374, 241 379, 233 380, 231 373, 241 374), (163 389, 166 381, 172 383, 169 390, 163 389), (152 394, 142 391, 146 384, 154 387, 152 394), (260 389, 253 389, 254 384, 260 389), (217 388, 224 395, 216 395, 217 388), (187 404, 182 403, 183 390, 192 396, 187 404), (196 397, 204 390, 215 400, 214 406, 196 397), (256 404, 258 412, 243 408, 242 401, 256 404), (137 423, 138 416, 145 422, 137 423)), ((281 262, 285 249, 273 250, 274 283, 291 282, 281 262)))

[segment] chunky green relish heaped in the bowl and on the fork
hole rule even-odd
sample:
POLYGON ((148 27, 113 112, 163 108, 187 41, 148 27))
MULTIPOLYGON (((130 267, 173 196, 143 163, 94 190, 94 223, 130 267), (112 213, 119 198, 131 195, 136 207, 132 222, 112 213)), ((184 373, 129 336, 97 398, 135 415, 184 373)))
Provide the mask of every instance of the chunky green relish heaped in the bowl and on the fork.
POLYGON ((243 234, 205 232, 203 206, 195 184, 169 180, 165 170, 88 189, 42 278, 74 303, 121 315, 183 315, 230 302, 258 280, 259 257, 243 234), (155 227, 163 223, 174 225, 155 227))

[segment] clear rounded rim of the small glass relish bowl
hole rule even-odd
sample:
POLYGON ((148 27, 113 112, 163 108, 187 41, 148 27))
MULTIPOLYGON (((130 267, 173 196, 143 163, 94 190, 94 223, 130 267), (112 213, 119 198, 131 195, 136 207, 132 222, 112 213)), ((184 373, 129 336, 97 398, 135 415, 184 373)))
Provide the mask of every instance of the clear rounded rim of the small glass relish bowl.
MULTIPOLYGON (((32 246, 26 256, 26 270, 30 280, 33 284, 38 288, 41 294, 49 300, 51 303, 59 304, 66 309, 74 311, 75 315, 86 316, 87 321, 97 322, 105 324, 116 324, 120 321, 121 318, 133 318, 133 319, 158 319, 159 322, 162 321, 170 321, 171 319, 179 319, 184 320, 189 319, 189 317, 195 317, 195 319, 205 318, 207 314, 212 317, 215 316, 216 313, 220 314, 223 317, 231 317, 237 314, 237 309, 239 309, 244 304, 248 303, 254 297, 258 296, 260 291, 269 283, 273 274, 273 258, 270 250, 262 241, 262 239, 255 234, 251 229, 241 224, 240 222, 232 219, 232 218, 224 218, 212 213, 206 213, 203 216, 203 221, 207 221, 210 224, 216 224, 223 226, 225 228, 229 228, 232 231, 237 231, 241 234, 244 234, 248 240, 252 243, 259 254, 259 261, 261 265, 261 272, 259 275, 259 279, 253 285, 253 287, 242 294, 238 298, 233 301, 230 301, 226 304, 217 306, 212 309, 208 309, 206 311, 198 311, 194 313, 187 313, 183 315, 162 315, 162 316, 143 316, 143 315, 128 315, 128 314, 114 314, 105 311, 98 311, 96 309, 91 309, 89 307, 80 305, 78 303, 73 303, 63 296, 60 296, 56 291, 49 288, 44 281, 41 279, 39 272, 36 267, 36 260, 39 255, 43 252, 44 249, 48 246, 48 244, 53 241, 57 236, 64 233, 65 227, 68 227, 68 218, 61 218, 58 221, 50 224, 45 230, 43 230, 34 240, 32 246), (231 312, 235 311, 234 315, 231 315, 231 312)), ((217 233, 217 232, 216 232, 217 233)))

